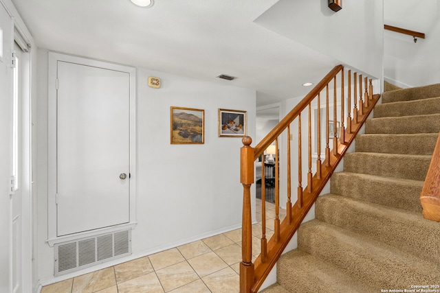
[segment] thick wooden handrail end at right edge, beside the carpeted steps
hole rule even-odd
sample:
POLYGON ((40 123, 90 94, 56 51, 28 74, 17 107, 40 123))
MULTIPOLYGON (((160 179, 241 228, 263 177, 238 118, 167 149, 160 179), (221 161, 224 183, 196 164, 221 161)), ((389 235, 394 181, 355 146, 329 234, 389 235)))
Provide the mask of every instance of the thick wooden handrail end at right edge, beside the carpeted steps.
POLYGON ((440 135, 420 194, 423 217, 440 222, 440 135))

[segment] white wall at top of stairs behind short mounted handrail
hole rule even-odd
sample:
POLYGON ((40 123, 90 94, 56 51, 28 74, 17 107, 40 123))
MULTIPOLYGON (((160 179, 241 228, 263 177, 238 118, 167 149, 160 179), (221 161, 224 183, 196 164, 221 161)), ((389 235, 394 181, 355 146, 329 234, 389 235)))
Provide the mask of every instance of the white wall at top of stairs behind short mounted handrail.
POLYGON ((433 0, 384 1, 387 25, 423 32, 418 38, 397 32, 384 33, 384 75, 389 82, 401 86, 424 86, 440 82, 440 3, 433 0))

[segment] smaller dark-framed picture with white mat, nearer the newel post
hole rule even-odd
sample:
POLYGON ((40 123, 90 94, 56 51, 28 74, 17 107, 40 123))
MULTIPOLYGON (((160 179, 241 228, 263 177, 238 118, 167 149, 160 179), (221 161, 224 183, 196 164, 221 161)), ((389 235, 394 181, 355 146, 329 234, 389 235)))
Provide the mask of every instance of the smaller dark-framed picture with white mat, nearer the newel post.
POLYGON ((248 112, 219 109, 219 137, 244 137, 248 134, 248 112))

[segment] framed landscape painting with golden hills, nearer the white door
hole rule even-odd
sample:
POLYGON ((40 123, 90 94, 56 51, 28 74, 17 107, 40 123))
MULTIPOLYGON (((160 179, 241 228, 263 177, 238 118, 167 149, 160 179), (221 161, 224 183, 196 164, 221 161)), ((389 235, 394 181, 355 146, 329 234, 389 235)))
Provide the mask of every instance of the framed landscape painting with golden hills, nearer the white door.
POLYGON ((205 143, 205 110, 171 106, 171 144, 205 143))

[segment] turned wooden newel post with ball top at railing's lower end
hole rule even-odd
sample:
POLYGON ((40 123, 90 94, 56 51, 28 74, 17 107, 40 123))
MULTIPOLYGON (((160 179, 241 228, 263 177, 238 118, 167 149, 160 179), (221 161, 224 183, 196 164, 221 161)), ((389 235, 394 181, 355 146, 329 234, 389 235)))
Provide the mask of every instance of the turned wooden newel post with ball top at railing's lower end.
POLYGON ((254 148, 252 139, 243 137, 241 156, 241 184, 243 184, 243 222, 241 229, 242 261, 240 263, 240 293, 250 293, 254 285, 254 263, 252 263, 252 214, 250 205, 250 187, 254 183, 254 148))

